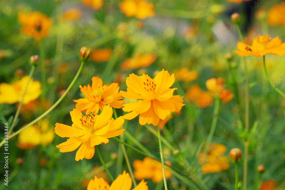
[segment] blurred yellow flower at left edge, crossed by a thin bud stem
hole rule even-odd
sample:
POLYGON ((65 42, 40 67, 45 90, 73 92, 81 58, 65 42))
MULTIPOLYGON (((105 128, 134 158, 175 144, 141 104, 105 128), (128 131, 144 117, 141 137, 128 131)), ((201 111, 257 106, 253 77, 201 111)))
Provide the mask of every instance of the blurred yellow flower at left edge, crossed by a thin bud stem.
MULTIPOLYGON (((29 76, 25 76, 21 80, 16 81, 13 84, 1 83, 0 104, 14 104, 17 102, 21 102, 26 85, 28 83, 28 79, 29 76)), ((40 88, 40 82, 34 81, 34 79, 31 78, 23 100, 23 105, 29 103, 32 100, 37 99, 42 93, 40 88)))

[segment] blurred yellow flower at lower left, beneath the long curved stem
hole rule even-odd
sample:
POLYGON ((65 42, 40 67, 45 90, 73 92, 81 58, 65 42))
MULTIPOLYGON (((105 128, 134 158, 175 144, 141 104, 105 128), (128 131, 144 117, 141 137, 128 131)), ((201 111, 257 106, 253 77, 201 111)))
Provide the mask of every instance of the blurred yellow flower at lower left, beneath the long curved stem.
POLYGON ((21 149, 34 148, 39 144, 46 146, 54 139, 54 130, 49 129, 49 121, 45 120, 40 126, 31 125, 20 132, 17 146, 21 149))

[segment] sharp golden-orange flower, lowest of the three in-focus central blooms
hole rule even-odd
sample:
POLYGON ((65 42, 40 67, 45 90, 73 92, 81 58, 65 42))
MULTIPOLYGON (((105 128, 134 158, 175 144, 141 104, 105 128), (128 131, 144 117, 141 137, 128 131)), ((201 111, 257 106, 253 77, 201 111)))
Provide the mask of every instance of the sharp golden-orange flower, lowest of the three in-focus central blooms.
POLYGON ((105 106, 100 115, 82 115, 78 109, 70 111, 72 126, 56 123, 55 133, 60 137, 68 137, 66 142, 57 145, 60 152, 71 152, 80 148, 76 152, 75 160, 83 158, 91 159, 95 153, 95 146, 108 143, 114 136, 123 134, 124 129, 120 129, 125 120, 123 117, 112 119, 113 110, 110 105, 105 106))

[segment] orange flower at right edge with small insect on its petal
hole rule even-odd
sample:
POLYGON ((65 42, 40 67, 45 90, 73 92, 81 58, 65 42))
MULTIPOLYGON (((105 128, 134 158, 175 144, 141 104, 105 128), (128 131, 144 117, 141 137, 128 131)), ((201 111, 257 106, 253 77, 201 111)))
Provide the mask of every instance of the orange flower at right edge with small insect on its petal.
POLYGON ((234 52, 239 56, 253 55, 255 57, 260 57, 266 54, 277 56, 285 54, 285 43, 282 43, 278 36, 272 39, 269 35, 266 36, 265 34, 263 34, 263 36, 257 34, 252 45, 239 42, 237 43, 237 48, 239 50, 234 50, 234 52))

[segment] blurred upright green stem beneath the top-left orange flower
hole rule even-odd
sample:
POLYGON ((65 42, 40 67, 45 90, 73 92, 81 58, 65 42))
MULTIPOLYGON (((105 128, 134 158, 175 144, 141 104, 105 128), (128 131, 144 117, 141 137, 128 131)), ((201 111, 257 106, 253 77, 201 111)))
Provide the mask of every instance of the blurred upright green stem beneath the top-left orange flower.
POLYGON ((42 62, 41 72, 42 72, 42 111, 44 112, 44 101, 46 99, 46 66, 44 64, 44 44, 42 42, 42 37, 40 38, 40 60, 42 62))

